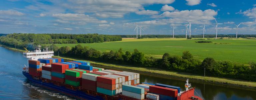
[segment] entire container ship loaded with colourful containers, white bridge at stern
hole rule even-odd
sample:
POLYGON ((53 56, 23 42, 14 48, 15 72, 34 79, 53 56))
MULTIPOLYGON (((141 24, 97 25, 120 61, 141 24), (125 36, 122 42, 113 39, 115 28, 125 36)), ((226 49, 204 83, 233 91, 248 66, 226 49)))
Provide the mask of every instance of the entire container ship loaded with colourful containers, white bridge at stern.
POLYGON ((23 68, 27 79, 44 88, 85 100, 202 100, 194 95, 188 79, 185 91, 165 84, 140 83, 140 74, 90 66, 90 62, 52 58, 45 48, 23 53, 29 58, 23 68))

